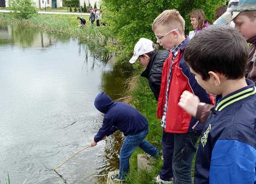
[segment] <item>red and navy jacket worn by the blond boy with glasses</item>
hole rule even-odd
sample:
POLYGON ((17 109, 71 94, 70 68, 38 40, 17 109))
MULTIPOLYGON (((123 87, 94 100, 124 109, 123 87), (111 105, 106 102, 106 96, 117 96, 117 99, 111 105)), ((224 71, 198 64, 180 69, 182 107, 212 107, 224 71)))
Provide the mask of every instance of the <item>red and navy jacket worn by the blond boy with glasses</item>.
MULTIPOLYGON (((165 132, 187 133, 200 131, 203 129, 203 125, 200 122, 198 122, 191 115, 187 114, 178 105, 180 101, 180 95, 185 90, 194 93, 196 96, 198 96, 201 102, 214 104, 214 97, 209 95, 201 86, 198 85, 195 77, 190 72, 190 69, 184 60, 183 52, 189 40, 190 39, 186 37, 186 40, 180 47, 173 65, 171 66, 172 70, 171 81, 169 84, 169 98, 166 113, 165 132)), ((163 64, 161 90, 157 105, 157 118, 159 119, 162 119, 163 116, 163 107, 166 102, 165 98, 167 92, 168 74, 172 59, 173 54, 170 52, 169 57, 163 64)))

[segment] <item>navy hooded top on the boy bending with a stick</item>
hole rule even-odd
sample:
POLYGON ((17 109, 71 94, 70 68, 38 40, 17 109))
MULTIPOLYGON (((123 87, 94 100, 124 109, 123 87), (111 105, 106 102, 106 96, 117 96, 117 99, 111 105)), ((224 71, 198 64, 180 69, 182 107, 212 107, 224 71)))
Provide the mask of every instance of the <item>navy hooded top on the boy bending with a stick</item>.
POLYGON ((94 137, 96 143, 116 130, 120 130, 127 136, 148 128, 147 119, 137 109, 122 102, 113 102, 105 92, 97 95, 94 106, 105 114, 102 126, 94 137))

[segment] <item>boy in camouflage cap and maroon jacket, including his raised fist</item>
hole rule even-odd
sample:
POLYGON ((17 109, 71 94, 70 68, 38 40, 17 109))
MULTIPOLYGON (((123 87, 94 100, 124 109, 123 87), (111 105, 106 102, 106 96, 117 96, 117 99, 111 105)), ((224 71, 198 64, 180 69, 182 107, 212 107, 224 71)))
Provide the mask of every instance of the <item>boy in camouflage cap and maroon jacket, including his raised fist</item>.
MULTIPOLYGON (((227 11, 214 24, 228 24, 232 20, 235 23, 235 29, 250 44, 245 78, 254 81, 256 84, 256 1, 230 0, 227 11)), ((200 100, 190 92, 184 92, 181 101, 180 107, 201 122, 207 120, 210 109, 213 107, 210 104, 200 103, 200 100)))

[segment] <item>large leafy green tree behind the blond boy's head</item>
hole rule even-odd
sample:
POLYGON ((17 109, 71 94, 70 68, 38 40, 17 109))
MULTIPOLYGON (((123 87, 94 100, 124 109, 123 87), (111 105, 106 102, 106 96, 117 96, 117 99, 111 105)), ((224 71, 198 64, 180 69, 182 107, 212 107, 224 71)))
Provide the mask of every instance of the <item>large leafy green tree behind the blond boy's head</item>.
POLYGON ((119 40, 117 50, 121 58, 127 59, 134 50, 134 44, 145 37, 156 42, 151 29, 154 19, 164 10, 177 9, 186 21, 186 34, 192 30, 189 13, 202 9, 209 23, 214 18, 214 9, 225 5, 227 0, 102 0, 104 21, 119 40))

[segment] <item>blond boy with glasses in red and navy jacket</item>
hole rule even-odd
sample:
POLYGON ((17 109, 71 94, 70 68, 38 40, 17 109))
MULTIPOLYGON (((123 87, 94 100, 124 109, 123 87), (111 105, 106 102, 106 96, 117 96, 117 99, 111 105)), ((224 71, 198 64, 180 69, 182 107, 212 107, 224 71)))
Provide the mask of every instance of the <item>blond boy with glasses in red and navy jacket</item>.
POLYGON ((163 127, 163 166, 156 178, 158 184, 192 184, 192 159, 202 125, 178 106, 185 90, 194 92, 210 103, 207 92, 198 85, 184 61, 183 53, 189 42, 184 35, 185 21, 177 10, 163 11, 154 20, 152 29, 157 43, 170 51, 163 64, 157 118, 163 127))

